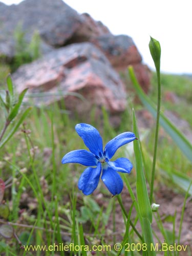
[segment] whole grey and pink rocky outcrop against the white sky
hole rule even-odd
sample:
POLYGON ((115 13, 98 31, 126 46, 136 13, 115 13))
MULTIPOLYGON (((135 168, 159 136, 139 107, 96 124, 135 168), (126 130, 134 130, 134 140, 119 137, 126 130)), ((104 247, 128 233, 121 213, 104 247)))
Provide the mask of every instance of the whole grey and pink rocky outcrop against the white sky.
MULTIPOLYGON (((87 13, 78 14, 62 0, 24 0, 11 6, 0 3, 0 24, 0 57, 14 58, 18 26, 22 40, 28 43, 34 33, 40 36, 42 58, 13 75, 18 91, 29 87, 29 93, 54 93, 54 100, 68 94, 68 109, 78 105, 78 110, 88 110, 95 104, 112 113, 120 112, 125 108, 126 93, 116 71, 126 70, 128 65, 133 65, 143 90, 148 91, 149 70, 132 38, 113 35, 101 22, 87 13), (79 93, 86 101, 69 93, 79 93)), ((52 101, 44 97, 36 103, 52 101)))

